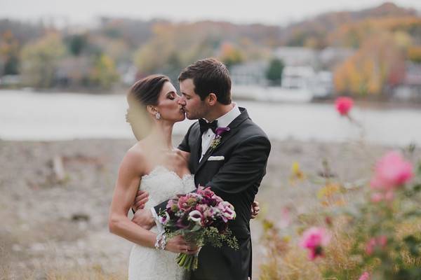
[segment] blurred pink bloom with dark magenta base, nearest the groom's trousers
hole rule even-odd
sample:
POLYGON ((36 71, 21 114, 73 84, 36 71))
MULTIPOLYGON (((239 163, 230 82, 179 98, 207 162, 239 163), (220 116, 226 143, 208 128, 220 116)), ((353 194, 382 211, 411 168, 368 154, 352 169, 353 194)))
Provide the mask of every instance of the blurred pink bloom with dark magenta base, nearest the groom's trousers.
POLYGON ((324 228, 309 228, 302 234, 300 246, 309 249, 309 259, 323 256, 323 247, 330 241, 330 234, 324 228))

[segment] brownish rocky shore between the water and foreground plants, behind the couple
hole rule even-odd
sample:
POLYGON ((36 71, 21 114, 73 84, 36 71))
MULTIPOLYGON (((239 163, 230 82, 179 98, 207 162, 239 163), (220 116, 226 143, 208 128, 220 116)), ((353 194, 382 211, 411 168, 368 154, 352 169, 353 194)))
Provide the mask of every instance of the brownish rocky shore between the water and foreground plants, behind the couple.
MULTIPOLYGON (((180 137, 174 139, 175 143, 180 137)), ((116 173, 134 140, 0 141, 0 279, 48 279, 51 271, 93 267, 125 279, 131 243, 108 232, 116 173)), ((258 276, 263 216, 279 220, 285 206, 298 213, 319 204, 316 186, 290 181, 298 162, 316 178, 369 179, 373 162, 392 148, 363 143, 273 141, 267 175, 252 221, 253 271, 258 276)), ((413 155, 421 158, 420 149, 413 155)))

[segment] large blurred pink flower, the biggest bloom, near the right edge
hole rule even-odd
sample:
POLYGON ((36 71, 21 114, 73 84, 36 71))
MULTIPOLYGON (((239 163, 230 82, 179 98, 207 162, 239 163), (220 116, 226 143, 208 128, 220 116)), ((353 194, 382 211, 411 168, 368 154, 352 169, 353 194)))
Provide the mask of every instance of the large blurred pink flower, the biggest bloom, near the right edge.
MULTIPOLYGON (((399 188, 413 177, 413 167, 397 152, 389 152, 375 165, 375 175, 370 186, 374 189, 399 188)), ((390 195, 390 194, 389 194, 390 195)))

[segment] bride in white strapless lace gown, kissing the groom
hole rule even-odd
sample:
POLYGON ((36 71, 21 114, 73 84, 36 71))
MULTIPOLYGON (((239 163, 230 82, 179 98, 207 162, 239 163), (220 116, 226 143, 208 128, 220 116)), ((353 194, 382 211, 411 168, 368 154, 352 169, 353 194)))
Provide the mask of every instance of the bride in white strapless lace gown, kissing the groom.
POLYGON ((178 253, 196 253, 182 237, 168 241, 154 227, 150 231, 131 221, 127 214, 138 190, 149 193, 145 208, 180 193, 194 190, 187 167, 189 153, 173 147, 173 125, 185 119, 180 97, 166 76, 152 75, 135 83, 128 93, 127 120, 140 139, 121 162, 109 210, 109 230, 134 244, 128 279, 187 279, 175 261, 178 253))

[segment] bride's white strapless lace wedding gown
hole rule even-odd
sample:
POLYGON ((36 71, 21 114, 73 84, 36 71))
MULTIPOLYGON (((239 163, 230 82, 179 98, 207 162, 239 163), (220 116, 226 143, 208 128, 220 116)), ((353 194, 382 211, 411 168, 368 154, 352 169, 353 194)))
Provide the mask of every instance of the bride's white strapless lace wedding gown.
MULTIPOLYGON (((174 195, 189 193, 194 190, 194 178, 187 174, 180 178, 175 172, 158 166, 151 173, 142 176, 140 190, 149 193, 149 200, 145 209, 169 200, 174 195)), ((156 226, 151 229, 157 232, 156 226)), ((143 247, 135 244, 131 250, 128 264, 129 280, 152 280, 171 279, 185 280, 187 274, 175 262, 177 253, 156 250, 155 248, 143 247)))

